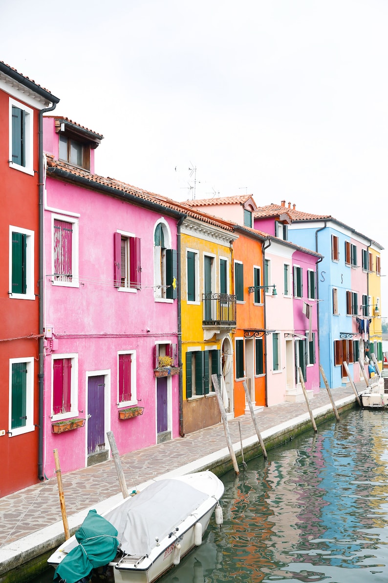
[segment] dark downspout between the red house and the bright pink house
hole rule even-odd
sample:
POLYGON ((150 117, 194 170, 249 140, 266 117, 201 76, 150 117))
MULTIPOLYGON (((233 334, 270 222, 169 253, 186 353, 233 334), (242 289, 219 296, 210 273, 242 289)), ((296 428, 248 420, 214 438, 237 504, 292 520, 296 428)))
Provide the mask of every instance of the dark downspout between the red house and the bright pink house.
MULTIPOLYGON (((58 99, 59 101, 59 99, 58 99)), ((38 413, 38 479, 44 480, 43 472, 43 379, 44 379, 44 237, 43 237, 43 222, 44 222, 44 164, 43 164, 43 114, 48 111, 55 110, 58 101, 54 101, 51 107, 40 110, 38 114, 38 186, 39 186, 39 373, 38 373, 38 387, 39 387, 39 413, 38 413)))

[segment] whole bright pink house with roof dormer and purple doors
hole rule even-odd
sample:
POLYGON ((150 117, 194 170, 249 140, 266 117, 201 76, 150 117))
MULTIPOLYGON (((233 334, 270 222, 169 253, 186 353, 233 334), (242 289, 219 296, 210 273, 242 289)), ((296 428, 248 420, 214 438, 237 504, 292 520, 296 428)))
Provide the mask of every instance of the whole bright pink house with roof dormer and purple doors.
POLYGON ((179 435, 181 214, 165 199, 94 174, 101 135, 67 118, 44 121, 49 476, 54 448, 64 472, 107 459, 107 431, 120 454, 179 435))

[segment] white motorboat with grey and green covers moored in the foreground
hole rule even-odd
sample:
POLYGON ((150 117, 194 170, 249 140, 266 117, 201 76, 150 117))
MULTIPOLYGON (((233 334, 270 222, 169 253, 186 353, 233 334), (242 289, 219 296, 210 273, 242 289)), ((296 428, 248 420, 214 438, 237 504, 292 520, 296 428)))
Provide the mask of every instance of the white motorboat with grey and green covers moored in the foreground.
POLYGON ((100 519, 102 529, 96 532, 83 529, 87 517, 76 535, 49 557, 48 563, 56 568, 54 581, 76 583, 83 577, 88 581, 92 577, 86 573, 88 561, 91 568, 102 566, 104 553, 107 556, 106 545, 111 545, 109 552, 114 556, 104 570, 107 581, 156 581, 179 564, 181 557, 201 545, 202 533, 215 508, 216 522, 221 524, 219 499, 223 491, 223 483, 212 472, 191 473, 155 480, 140 493, 105 512, 103 518, 90 511, 89 514, 94 512, 92 520, 100 519), (83 539, 80 532, 87 533, 83 539), (94 561, 99 552, 102 558, 94 561), (80 566, 73 563, 73 557, 81 561, 80 566))

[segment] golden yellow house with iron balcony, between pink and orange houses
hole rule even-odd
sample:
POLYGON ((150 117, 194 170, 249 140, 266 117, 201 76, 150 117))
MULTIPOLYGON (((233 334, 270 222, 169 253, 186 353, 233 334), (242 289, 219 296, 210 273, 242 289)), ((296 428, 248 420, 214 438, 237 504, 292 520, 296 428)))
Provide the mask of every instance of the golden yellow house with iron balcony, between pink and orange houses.
POLYGON ((187 216, 180 231, 183 433, 220 421, 212 374, 233 415, 233 225, 203 213, 187 216))

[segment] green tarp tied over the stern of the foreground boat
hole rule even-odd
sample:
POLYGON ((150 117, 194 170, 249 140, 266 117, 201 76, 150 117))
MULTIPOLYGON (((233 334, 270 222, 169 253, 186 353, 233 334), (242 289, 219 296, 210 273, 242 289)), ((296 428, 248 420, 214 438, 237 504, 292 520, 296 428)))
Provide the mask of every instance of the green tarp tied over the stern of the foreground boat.
POLYGON ((112 561, 117 553, 118 531, 105 518, 90 510, 76 532, 78 545, 70 551, 55 570, 54 581, 76 583, 86 577, 94 567, 112 561))

